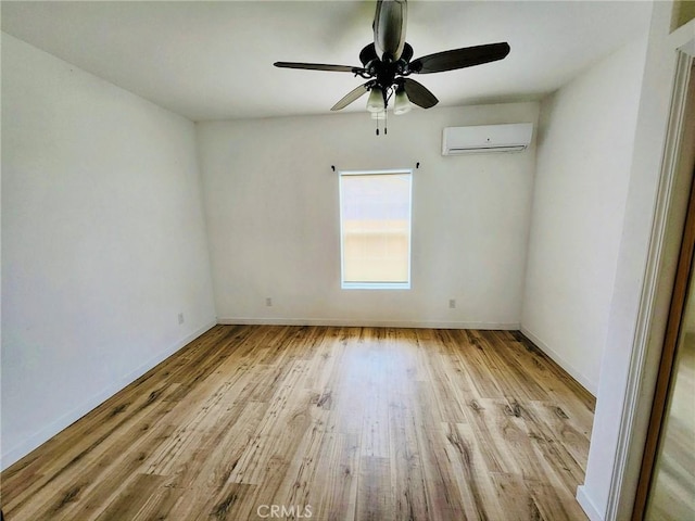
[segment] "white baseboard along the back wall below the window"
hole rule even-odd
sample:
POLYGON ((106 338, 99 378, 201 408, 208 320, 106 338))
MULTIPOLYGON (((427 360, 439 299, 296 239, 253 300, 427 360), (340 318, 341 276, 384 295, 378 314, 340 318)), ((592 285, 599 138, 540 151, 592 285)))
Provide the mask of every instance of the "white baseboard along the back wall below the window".
POLYGON ((344 318, 248 318, 217 319, 223 325, 258 326, 334 326, 343 328, 431 328, 431 329, 488 329, 517 331, 518 322, 440 322, 432 320, 362 320, 344 318))

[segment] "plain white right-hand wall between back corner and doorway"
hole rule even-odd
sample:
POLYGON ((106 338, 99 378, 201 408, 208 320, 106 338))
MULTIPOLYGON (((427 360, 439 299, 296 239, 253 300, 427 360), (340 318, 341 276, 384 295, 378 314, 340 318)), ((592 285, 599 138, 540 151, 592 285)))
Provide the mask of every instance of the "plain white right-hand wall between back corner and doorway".
POLYGON ((645 52, 646 35, 541 105, 521 330, 594 395, 645 52))

